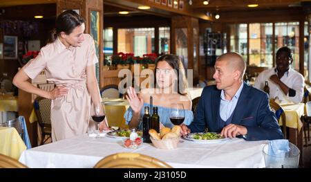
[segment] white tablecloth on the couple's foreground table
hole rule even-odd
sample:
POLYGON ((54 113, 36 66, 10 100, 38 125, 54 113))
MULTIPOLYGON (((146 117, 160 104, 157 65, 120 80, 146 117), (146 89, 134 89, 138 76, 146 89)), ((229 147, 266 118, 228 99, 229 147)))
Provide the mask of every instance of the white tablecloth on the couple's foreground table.
POLYGON ((265 143, 266 140, 250 142, 238 138, 219 143, 180 139, 177 149, 156 149, 149 143, 142 143, 138 149, 126 149, 120 139, 93 139, 85 134, 27 149, 19 161, 28 167, 93 167, 110 154, 136 152, 158 158, 172 167, 265 167, 262 152, 265 143))

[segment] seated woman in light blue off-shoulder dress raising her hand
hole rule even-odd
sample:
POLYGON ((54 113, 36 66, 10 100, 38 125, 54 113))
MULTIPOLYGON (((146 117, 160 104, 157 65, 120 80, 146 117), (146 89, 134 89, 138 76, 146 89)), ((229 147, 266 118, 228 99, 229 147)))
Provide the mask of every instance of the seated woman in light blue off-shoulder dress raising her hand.
POLYGON ((158 58, 155 72, 156 88, 142 89, 138 94, 135 93, 133 87, 127 90, 129 95, 126 95, 126 99, 129 100, 131 107, 124 114, 126 124, 130 128, 142 129, 141 121, 144 115, 144 107, 149 106, 152 95, 153 107, 158 107, 160 127, 163 125, 164 127, 173 127, 173 123, 169 120, 171 104, 173 103, 183 104, 185 109, 183 123, 189 125, 194 120, 194 114, 191 111, 191 99, 187 94, 187 80, 182 62, 176 55, 162 55, 158 58))

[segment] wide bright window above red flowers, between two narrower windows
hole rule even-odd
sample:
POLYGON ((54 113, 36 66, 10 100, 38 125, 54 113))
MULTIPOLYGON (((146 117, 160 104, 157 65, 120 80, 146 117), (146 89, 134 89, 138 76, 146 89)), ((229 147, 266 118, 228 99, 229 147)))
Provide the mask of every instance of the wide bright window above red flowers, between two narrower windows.
POLYGON ((117 30, 117 51, 140 56, 154 53, 154 28, 120 28, 117 30))

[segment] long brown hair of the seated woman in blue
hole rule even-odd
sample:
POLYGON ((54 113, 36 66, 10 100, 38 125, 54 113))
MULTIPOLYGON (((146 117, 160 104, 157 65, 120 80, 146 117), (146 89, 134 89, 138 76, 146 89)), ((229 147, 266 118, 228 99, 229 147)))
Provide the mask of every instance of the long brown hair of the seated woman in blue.
POLYGON ((156 77, 156 71, 158 69, 158 62, 167 62, 169 66, 171 66, 177 73, 177 92, 180 95, 187 95, 187 79, 185 77, 185 69, 184 66, 182 66, 182 62, 180 61, 179 57, 176 55, 162 55, 158 57, 158 60, 156 62, 156 69, 155 69, 155 79, 154 79, 154 85, 157 85, 157 77, 156 77), (181 80, 180 80, 181 78, 181 80), (179 87, 179 84, 182 85, 182 87, 179 87))

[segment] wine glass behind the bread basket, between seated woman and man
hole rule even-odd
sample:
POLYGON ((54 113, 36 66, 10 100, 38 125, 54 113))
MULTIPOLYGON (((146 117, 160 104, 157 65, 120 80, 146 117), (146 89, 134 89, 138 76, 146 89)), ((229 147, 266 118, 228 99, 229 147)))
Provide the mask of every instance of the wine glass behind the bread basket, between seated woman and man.
POLYGON ((181 103, 171 104, 171 115, 169 116, 171 123, 174 125, 181 125, 185 120, 185 109, 181 103))

